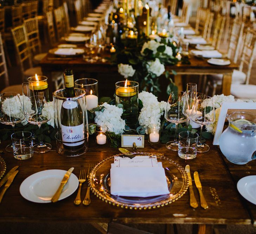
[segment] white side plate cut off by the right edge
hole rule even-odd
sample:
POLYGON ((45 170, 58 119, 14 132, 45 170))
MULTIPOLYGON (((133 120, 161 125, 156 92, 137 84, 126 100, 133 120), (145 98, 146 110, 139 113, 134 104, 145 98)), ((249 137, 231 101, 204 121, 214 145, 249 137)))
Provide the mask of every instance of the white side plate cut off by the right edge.
POLYGON ((237 182, 238 192, 256 205, 256 175, 248 175, 237 182))

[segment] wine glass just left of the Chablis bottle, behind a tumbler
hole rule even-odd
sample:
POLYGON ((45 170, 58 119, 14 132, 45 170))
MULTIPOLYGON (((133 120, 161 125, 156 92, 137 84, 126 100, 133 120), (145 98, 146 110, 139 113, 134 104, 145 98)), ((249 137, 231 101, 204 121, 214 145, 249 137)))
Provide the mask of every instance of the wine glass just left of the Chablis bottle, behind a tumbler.
POLYGON ((44 96, 35 95, 29 98, 30 103, 26 107, 26 119, 29 123, 39 127, 39 143, 34 145, 35 153, 45 153, 52 149, 51 144, 42 141, 41 125, 51 119, 48 104, 44 96))

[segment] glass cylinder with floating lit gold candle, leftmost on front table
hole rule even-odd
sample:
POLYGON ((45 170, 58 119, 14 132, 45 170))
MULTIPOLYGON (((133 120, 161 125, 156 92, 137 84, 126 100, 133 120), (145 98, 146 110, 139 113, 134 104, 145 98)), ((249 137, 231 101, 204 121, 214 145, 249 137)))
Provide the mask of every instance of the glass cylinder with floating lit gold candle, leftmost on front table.
POLYGON ((47 77, 44 75, 30 76, 27 80, 34 95, 45 96, 46 101, 49 101, 49 90, 47 77))

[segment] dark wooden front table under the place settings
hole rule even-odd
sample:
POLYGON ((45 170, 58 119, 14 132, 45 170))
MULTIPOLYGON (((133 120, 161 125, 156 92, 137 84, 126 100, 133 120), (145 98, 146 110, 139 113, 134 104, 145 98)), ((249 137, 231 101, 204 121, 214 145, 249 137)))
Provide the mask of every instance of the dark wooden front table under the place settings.
MULTIPOLYGON (((146 209, 130 210, 112 206, 101 201, 91 193, 91 204, 89 206, 75 206, 73 201, 77 191, 64 200, 56 203, 33 203, 24 199, 19 192, 19 187, 28 176, 47 169, 67 170, 74 167, 73 173, 79 175, 80 169, 87 169, 90 163, 96 164, 101 160, 118 154, 118 149, 110 148, 109 145, 97 146, 90 136, 88 151, 77 157, 65 157, 59 155, 55 149, 44 154, 34 154, 31 159, 19 161, 12 153, 4 151, 8 142, 2 142, 1 154, 7 165, 7 172, 14 166, 19 166, 19 173, 12 185, 7 190, 0 203, 0 226, 3 222, 22 223, 55 223, 68 222, 75 226, 83 223, 163 223, 163 224, 184 224, 192 223, 196 226, 198 233, 211 233, 213 225, 251 225, 255 223, 255 205, 245 201, 239 195, 236 182, 238 179, 256 174, 256 162, 252 161, 247 165, 234 165, 224 159, 216 146, 211 142, 210 151, 199 154, 193 160, 183 160, 178 157, 177 152, 169 151, 161 144, 158 149, 152 149, 145 141, 145 147, 137 151, 163 153, 166 157, 179 163, 183 168, 190 165, 191 175, 198 171, 202 183, 203 193, 209 208, 200 207, 199 194, 193 182, 193 190, 198 202, 196 209, 190 207, 189 191, 177 201, 168 206, 146 209)), ((131 148, 130 151, 133 151, 131 148)), ((193 177, 192 177, 193 178, 193 177)), ((81 198, 85 196, 87 185, 83 184, 81 198)), ((194 229, 196 230, 196 229, 194 229)))

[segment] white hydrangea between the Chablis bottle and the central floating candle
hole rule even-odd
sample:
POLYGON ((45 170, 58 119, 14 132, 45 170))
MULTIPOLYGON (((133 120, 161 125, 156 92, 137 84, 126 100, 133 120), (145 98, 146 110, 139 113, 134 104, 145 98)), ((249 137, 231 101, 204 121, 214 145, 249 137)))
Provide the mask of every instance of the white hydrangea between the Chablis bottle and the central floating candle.
POLYGON ((107 127, 109 132, 114 132, 115 134, 123 134, 125 129, 125 121, 121 119, 123 114, 123 109, 117 106, 109 105, 104 102, 99 107, 104 106, 103 112, 96 111, 94 121, 98 126, 107 127))

